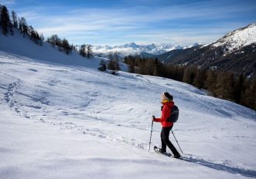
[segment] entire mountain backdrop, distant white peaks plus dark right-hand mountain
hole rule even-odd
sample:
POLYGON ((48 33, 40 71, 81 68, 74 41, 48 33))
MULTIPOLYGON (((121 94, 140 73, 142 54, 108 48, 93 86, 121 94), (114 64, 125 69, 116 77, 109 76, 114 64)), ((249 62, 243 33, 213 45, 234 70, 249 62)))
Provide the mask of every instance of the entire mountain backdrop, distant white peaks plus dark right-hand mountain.
POLYGON ((118 52, 120 57, 140 55, 179 66, 199 66, 204 69, 230 70, 238 74, 255 75, 256 23, 229 32, 207 45, 137 45, 131 42, 123 46, 94 46, 93 51, 96 56, 107 57, 110 52, 118 52))

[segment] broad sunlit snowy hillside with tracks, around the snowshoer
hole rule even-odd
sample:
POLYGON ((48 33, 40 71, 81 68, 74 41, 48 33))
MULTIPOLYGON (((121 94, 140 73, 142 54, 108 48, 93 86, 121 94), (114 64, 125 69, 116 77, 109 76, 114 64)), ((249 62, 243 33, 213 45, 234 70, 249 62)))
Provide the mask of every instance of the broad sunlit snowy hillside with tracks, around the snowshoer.
MULTIPOLYGON (((4 49, 2 42, 1 178, 256 177, 253 110, 171 79, 38 61, 43 54, 27 58, 18 45, 4 49), (160 116, 164 91, 179 106, 172 130, 183 160, 148 153, 151 117, 160 116)), ((55 59, 52 47, 44 48, 55 59)), ((152 146, 160 145, 160 130, 154 123, 152 146)))

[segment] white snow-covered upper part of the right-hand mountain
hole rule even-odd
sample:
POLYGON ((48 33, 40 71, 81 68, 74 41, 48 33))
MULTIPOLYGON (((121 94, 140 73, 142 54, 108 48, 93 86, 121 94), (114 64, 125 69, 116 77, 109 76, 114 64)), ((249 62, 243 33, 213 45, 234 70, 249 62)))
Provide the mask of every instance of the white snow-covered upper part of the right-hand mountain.
POLYGON ((226 48, 225 50, 230 53, 244 46, 249 46, 252 43, 256 43, 256 23, 234 30, 224 35, 224 37, 217 40, 217 42, 213 42, 210 46, 224 46, 226 48))

